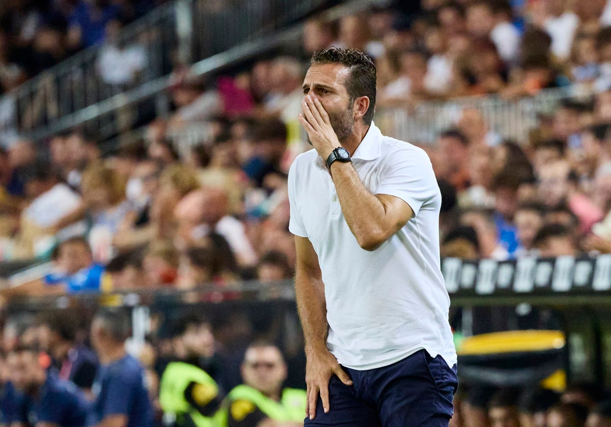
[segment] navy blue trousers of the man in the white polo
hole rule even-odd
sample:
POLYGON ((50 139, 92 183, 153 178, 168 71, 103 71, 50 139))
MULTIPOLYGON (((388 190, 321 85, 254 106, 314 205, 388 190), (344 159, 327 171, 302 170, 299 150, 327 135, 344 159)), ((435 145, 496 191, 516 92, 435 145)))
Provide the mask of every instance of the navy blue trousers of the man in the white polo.
POLYGON ((344 370, 353 386, 332 376, 331 409, 325 414, 318 397, 316 417, 305 418, 305 427, 447 427, 452 418, 456 365, 448 367, 441 356, 420 350, 382 368, 344 370))

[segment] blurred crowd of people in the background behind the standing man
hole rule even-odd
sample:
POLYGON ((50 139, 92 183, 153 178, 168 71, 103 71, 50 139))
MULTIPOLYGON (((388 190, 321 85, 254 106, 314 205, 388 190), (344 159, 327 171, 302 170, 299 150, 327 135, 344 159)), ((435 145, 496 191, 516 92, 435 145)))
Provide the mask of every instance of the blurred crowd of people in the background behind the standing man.
MULTIPOLYGON (((98 43, 114 18, 128 22, 157 2, 46 3, 0 4, 0 91, 98 43), (92 10, 104 18, 92 22, 92 10)), ((380 108, 409 109, 459 96, 519 99, 546 88, 579 87, 584 96, 538 117, 528 140, 504 140, 477 109, 461 111, 433 144, 408 140, 428 152, 442 191, 442 256, 505 260, 611 253, 610 24, 611 2, 602 0, 423 0, 418 13, 375 9, 334 23, 310 20, 298 54, 261 59, 231 76, 201 79, 177 66, 169 93, 174 110, 150 121, 143 140, 104 156, 96 135, 80 128, 54 135, 43 147, 27 140, 5 144, 0 259, 51 258, 53 268, 40 280, 0 289, 0 295, 10 300, 172 289, 184 291, 183 302, 192 304, 235 297, 230 290, 188 292, 202 284, 222 290, 249 279, 290 279, 295 247, 288 232, 287 171, 309 148, 297 120, 302 78, 310 54, 331 45, 363 49, 375 60, 380 108), (181 143, 183 132, 202 124, 207 132, 197 145, 181 143)), ((108 354, 95 356, 82 347, 89 324, 68 322, 79 326, 75 331, 60 320, 30 318, 16 328, 18 339, 5 327, 5 387, 42 384, 43 375, 50 375, 72 381, 84 395, 91 392, 98 359, 108 354), (64 341, 52 343, 49 329, 64 341), (68 350, 77 347, 87 369, 70 376, 68 350), (24 364, 29 368, 20 370, 24 364), (19 377, 37 364, 44 369, 36 370, 36 378, 19 377)), ((236 373, 257 338, 237 334, 234 351, 217 354, 227 346, 223 332, 194 318, 176 323, 174 332, 140 351, 158 422, 159 382, 169 361, 201 368, 217 388, 210 392, 208 379, 195 381, 202 387, 186 382, 187 403, 167 403, 183 410, 166 412, 208 417, 240 384, 236 373), (205 348, 189 348, 193 343, 205 348)), ((99 341, 92 337, 92 344, 99 351, 99 341)), ((255 369, 265 370, 265 363, 255 369)), ((459 392, 454 426, 611 425, 609 397, 598 390, 574 386, 562 395, 521 397, 515 390, 476 391, 459 392)), ((10 406, 8 401, 0 406, 10 406)), ((254 413, 249 409, 236 412, 246 419, 254 413)), ((262 424, 271 417, 265 414, 257 412, 248 418, 256 421, 243 425, 270 425, 262 424)))

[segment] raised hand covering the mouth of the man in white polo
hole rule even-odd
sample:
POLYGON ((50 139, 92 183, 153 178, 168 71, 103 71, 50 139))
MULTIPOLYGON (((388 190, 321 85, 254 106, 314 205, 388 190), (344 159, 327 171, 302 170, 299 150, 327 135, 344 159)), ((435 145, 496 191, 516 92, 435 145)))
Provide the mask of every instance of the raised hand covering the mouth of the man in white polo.
POLYGON ((312 146, 318 151, 318 155, 327 160, 331 151, 341 146, 329 115, 324 110, 323 104, 318 99, 305 95, 301 104, 302 114, 299 114, 299 121, 310 137, 312 146))

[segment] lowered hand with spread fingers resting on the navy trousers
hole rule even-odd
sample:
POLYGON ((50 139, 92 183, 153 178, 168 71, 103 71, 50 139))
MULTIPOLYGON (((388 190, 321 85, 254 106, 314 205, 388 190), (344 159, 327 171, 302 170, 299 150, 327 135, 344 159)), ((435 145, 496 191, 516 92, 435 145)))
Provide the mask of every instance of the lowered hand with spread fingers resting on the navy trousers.
POLYGON ((352 380, 337 363, 335 356, 329 350, 306 352, 305 383, 307 384, 307 404, 305 415, 313 420, 316 417, 316 400, 318 393, 323 401, 324 412, 329 412, 329 380, 337 375, 346 386, 352 386, 352 380))

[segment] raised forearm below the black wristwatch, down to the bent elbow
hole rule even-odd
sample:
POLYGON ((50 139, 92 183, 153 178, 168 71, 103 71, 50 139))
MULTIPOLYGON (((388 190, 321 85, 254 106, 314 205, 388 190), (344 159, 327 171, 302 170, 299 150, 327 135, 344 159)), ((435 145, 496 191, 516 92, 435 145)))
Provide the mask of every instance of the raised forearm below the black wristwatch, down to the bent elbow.
POLYGON ((352 163, 332 163, 331 176, 350 231, 361 248, 375 249, 387 238, 384 205, 363 185, 352 163))

